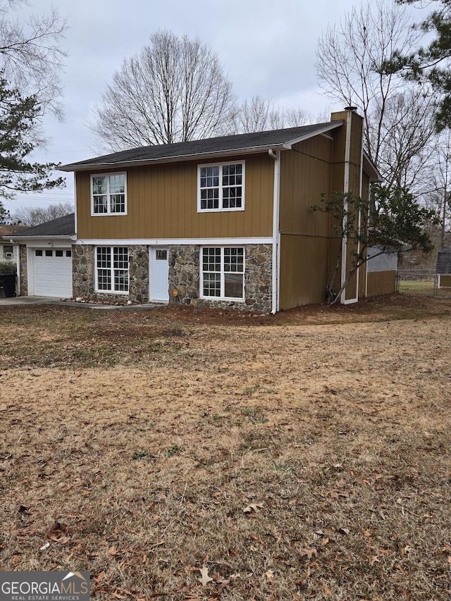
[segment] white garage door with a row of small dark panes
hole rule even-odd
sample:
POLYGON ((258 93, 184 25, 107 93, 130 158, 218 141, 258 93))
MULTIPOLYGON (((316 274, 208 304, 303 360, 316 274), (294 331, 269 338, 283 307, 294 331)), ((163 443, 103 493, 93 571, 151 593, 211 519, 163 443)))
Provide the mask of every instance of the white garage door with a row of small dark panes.
POLYGON ((72 252, 69 248, 34 250, 32 295, 72 296, 72 252))

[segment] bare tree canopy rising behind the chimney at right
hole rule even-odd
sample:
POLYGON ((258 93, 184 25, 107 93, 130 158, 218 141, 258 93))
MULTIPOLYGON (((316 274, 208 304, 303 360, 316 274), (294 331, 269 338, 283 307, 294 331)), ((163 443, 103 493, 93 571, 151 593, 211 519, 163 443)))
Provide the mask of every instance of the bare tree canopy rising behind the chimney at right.
POLYGON ((407 54, 419 39, 405 6, 367 0, 328 27, 316 54, 324 92, 362 112, 366 150, 388 185, 398 187, 412 187, 426 165, 436 99, 385 65, 395 49, 407 54))

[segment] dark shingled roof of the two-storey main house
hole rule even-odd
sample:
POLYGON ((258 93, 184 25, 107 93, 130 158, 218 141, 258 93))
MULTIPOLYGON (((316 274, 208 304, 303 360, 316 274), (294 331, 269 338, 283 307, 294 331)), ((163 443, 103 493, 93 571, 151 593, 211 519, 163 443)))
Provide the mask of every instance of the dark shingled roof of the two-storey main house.
POLYGON ((328 123, 316 123, 315 125, 302 125, 299 128, 212 137, 206 140, 193 140, 192 142, 178 142, 176 144, 143 146, 97 156, 95 159, 87 159, 87 161, 63 165, 60 169, 61 171, 78 171, 91 166, 115 166, 118 163, 181 160, 190 158, 190 156, 231 154, 234 151, 256 151, 258 149, 264 151, 264 149, 271 147, 283 147, 283 144, 289 144, 298 138, 319 135, 339 127, 342 123, 342 121, 330 121, 328 123))

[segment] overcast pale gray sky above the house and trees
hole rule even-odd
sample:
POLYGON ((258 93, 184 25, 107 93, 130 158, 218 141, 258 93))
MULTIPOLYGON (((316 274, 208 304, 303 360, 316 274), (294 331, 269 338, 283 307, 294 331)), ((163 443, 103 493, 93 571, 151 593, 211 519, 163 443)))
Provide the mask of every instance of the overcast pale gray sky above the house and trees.
MULTIPOLYGON (((314 116, 333 106, 316 84, 316 44, 328 23, 359 0, 30 0, 27 11, 57 6, 67 19, 63 47, 65 120, 45 121, 50 138, 39 161, 72 163, 95 156, 87 122, 101 92, 125 56, 140 51, 157 29, 199 37, 218 54, 240 99, 269 97, 274 104, 301 107, 314 116)), ((23 11, 22 11, 23 12, 23 11)), ((68 187, 54 194, 20 195, 5 206, 47 206, 73 199, 68 187)))

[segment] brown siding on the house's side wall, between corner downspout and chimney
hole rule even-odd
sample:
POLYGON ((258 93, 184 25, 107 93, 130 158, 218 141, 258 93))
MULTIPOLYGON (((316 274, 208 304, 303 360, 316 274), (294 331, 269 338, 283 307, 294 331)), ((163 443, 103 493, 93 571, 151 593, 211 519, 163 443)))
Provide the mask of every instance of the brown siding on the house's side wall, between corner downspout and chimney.
POLYGON ((280 309, 326 297, 329 218, 311 207, 330 194, 332 150, 333 140, 316 136, 281 153, 280 309))

